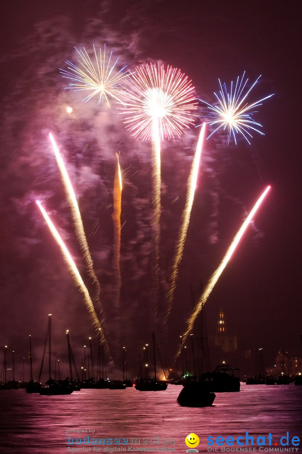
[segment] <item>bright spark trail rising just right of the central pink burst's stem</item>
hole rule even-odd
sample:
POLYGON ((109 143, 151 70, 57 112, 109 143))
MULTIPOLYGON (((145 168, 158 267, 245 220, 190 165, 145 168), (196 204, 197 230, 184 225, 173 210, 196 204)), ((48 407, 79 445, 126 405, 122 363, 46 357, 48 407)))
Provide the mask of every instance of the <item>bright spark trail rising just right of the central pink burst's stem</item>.
POLYGON ((191 166, 191 172, 190 172, 190 176, 188 179, 188 191, 187 191, 186 205, 185 205, 185 208, 184 208, 184 211, 182 214, 182 225, 181 225, 181 229, 180 229, 180 232, 178 235, 178 243, 176 245, 175 254, 174 254, 174 262, 173 262, 172 272, 171 272, 171 276, 170 276, 170 289, 167 294, 168 311, 167 311, 167 315, 165 318, 165 323, 167 323, 168 317, 169 317, 171 309, 172 309, 173 297, 174 297, 174 292, 176 289, 176 281, 178 278, 179 264, 182 259, 184 245, 185 245, 185 241, 186 241, 186 237, 187 237, 191 210, 192 210, 192 206, 193 206, 195 189, 196 189, 196 184, 197 184, 197 177, 198 177, 199 163, 200 163, 200 158, 201 158, 204 131, 205 131, 205 123, 202 125, 201 131, 199 134, 196 151, 195 151, 192 166, 191 166))

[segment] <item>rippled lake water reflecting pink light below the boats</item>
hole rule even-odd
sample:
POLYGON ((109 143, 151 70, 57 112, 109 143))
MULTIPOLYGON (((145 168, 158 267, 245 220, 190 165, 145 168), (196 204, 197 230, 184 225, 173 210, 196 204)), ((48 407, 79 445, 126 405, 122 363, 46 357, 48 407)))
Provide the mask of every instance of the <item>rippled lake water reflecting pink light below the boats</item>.
MULTIPOLYGON (((271 449, 275 449, 277 442, 276 448, 302 452, 302 386, 242 383, 240 392, 216 393, 212 407, 197 409, 178 406, 176 399, 180 390, 181 386, 175 385, 159 392, 139 392, 134 388, 83 389, 62 396, 27 394, 24 389, 2 391, 0 452, 72 452, 72 448, 78 448, 74 452, 83 452, 83 447, 91 449, 84 452, 94 452, 94 449, 110 452, 109 447, 111 452, 112 447, 114 452, 118 452, 117 448, 129 452, 130 447, 134 450, 165 448, 166 452, 173 448, 180 453, 188 449, 184 440, 191 432, 199 436, 200 443, 196 447, 199 452, 208 452, 208 436, 214 440, 211 448, 217 447, 219 452, 221 447, 216 445, 216 437, 222 436, 223 448, 231 449, 231 445, 225 444, 225 438, 232 436, 234 452, 240 449, 236 442, 238 436, 244 436, 243 447, 246 446, 246 431, 254 438, 254 446, 251 447, 251 443, 249 446, 256 452, 267 452, 264 449, 269 449, 269 433, 272 434, 271 449), (71 432, 86 429, 94 433, 71 432), (287 432, 289 444, 283 447, 280 438, 286 437, 287 432), (69 448, 68 436, 70 443, 73 440, 69 448), (265 436, 265 446, 257 445, 259 436, 265 436), (294 436, 300 439, 299 443, 294 440, 296 448, 291 442, 294 436), (88 445, 83 444, 85 437, 88 445), (126 438, 128 442, 91 443, 93 438, 98 443, 106 437, 126 438), (81 439, 81 445, 75 444, 77 438, 78 443, 81 439), (136 444, 130 444, 131 438, 136 438, 136 444)), ((259 444, 261 442, 260 439, 259 444)))

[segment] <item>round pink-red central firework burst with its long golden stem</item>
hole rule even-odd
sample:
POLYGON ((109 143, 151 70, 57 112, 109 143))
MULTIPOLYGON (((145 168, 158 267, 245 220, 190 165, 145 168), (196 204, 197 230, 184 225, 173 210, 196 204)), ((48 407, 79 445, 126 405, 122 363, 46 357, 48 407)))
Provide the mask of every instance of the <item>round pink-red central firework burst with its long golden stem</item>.
POLYGON ((133 137, 152 140, 155 225, 155 319, 160 274, 161 140, 180 137, 192 125, 197 108, 194 87, 176 68, 149 64, 135 68, 124 81, 120 107, 124 124, 133 137))

